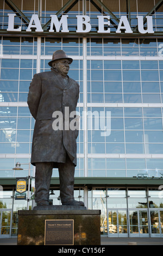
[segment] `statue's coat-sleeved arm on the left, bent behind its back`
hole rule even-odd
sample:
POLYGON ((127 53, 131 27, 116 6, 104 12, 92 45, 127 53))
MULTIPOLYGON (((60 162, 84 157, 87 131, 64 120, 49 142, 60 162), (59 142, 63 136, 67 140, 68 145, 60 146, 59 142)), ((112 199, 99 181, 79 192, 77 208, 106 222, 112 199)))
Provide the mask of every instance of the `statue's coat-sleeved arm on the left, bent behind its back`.
POLYGON ((41 78, 38 74, 35 74, 29 86, 29 93, 28 93, 28 100, 27 100, 30 113, 32 114, 34 119, 36 119, 36 116, 37 116, 37 109, 39 107, 41 91, 42 91, 41 78))

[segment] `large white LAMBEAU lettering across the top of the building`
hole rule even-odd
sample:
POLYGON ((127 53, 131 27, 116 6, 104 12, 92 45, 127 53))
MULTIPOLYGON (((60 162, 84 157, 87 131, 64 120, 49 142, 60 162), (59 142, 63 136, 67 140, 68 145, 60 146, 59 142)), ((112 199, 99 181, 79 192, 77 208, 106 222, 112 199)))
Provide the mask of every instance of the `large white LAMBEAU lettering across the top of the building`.
MULTIPOLYGON (((8 28, 9 32, 21 32, 22 27, 15 28, 14 19, 16 14, 10 13, 8 14, 8 28)), ((77 30, 76 33, 89 33, 91 31, 90 24, 90 16, 87 15, 76 15, 77 18, 77 30)), ((153 20, 152 16, 146 16, 147 19, 147 28, 145 29, 143 26, 143 16, 136 16, 137 18, 137 28, 141 34, 146 33, 154 33, 153 31, 153 20)), ((68 15, 62 15, 60 20, 57 15, 51 15, 51 25, 49 29, 49 33, 60 32, 60 33, 68 33, 68 15), (55 29, 54 29, 55 28, 55 29)), ((110 16, 109 15, 97 15, 98 19, 98 31, 97 33, 110 33, 110 16), (107 27, 106 27, 107 26, 107 27), (107 28, 107 29, 106 29, 107 28)), ((35 32, 43 32, 43 28, 41 26, 39 16, 37 14, 33 14, 26 32, 31 32, 32 28, 35 29, 35 32)), ((121 16, 120 22, 118 24, 116 33, 121 34, 122 30, 126 34, 131 34, 133 31, 129 25, 128 19, 126 15, 121 16)))

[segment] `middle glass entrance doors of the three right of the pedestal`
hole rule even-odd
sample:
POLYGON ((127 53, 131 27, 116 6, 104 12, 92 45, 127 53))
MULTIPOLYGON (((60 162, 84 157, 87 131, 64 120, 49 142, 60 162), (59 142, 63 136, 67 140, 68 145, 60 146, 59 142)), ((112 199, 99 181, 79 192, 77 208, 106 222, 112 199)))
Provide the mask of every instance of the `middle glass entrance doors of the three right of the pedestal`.
POLYGON ((129 210, 130 237, 149 237, 147 209, 129 210))

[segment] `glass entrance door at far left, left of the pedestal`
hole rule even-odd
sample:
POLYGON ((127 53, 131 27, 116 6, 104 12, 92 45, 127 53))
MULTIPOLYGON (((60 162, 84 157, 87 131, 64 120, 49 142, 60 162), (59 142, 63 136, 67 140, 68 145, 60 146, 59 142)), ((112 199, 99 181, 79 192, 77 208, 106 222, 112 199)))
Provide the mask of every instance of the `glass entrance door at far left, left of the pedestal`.
POLYGON ((0 238, 10 237, 11 209, 0 209, 0 238))

